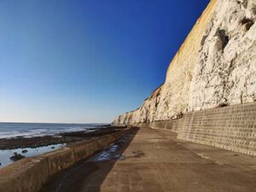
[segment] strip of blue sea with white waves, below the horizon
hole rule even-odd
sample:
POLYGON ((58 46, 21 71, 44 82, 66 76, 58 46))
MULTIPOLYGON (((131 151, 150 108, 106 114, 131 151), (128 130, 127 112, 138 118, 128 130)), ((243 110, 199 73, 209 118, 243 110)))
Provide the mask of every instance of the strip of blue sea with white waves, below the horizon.
POLYGON ((0 139, 51 136, 61 132, 86 131, 104 124, 0 123, 0 139))

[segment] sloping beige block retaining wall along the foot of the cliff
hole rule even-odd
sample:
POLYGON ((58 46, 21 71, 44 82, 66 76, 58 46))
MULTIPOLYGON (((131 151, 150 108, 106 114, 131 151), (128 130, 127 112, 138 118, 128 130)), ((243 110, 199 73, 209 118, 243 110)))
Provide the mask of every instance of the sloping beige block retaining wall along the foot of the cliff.
POLYGON ((177 138, 256 155, 256 102, 184 113, 176 120, 137 124, 177 132, 177 138))

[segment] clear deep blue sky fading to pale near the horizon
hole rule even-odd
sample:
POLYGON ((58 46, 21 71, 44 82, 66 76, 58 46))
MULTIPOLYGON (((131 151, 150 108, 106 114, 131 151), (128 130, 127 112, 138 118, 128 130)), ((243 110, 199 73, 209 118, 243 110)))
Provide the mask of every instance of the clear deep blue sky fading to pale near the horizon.
POLYGON ((108 123, 139 107, 209 0, 1 0, 0 121, 108 123))

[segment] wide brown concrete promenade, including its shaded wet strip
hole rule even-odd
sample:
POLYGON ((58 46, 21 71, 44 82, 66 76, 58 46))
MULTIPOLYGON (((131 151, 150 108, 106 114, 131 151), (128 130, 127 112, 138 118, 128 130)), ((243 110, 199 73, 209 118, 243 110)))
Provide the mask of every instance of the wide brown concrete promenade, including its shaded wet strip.
POLYGON ((46 191, 253 192, 256 157, 141 128, 52 177, 46 191))

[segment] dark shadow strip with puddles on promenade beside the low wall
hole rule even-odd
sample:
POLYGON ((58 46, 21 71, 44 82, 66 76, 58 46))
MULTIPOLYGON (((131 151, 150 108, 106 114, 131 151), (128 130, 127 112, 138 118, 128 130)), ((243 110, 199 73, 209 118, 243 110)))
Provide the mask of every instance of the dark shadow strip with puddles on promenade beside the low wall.
POLYGON ((40 192, 100 192, 104 179, 116 161, 125 158, 122 154, 138 130, 133 128, 118 142, 51 177, 40 192))

